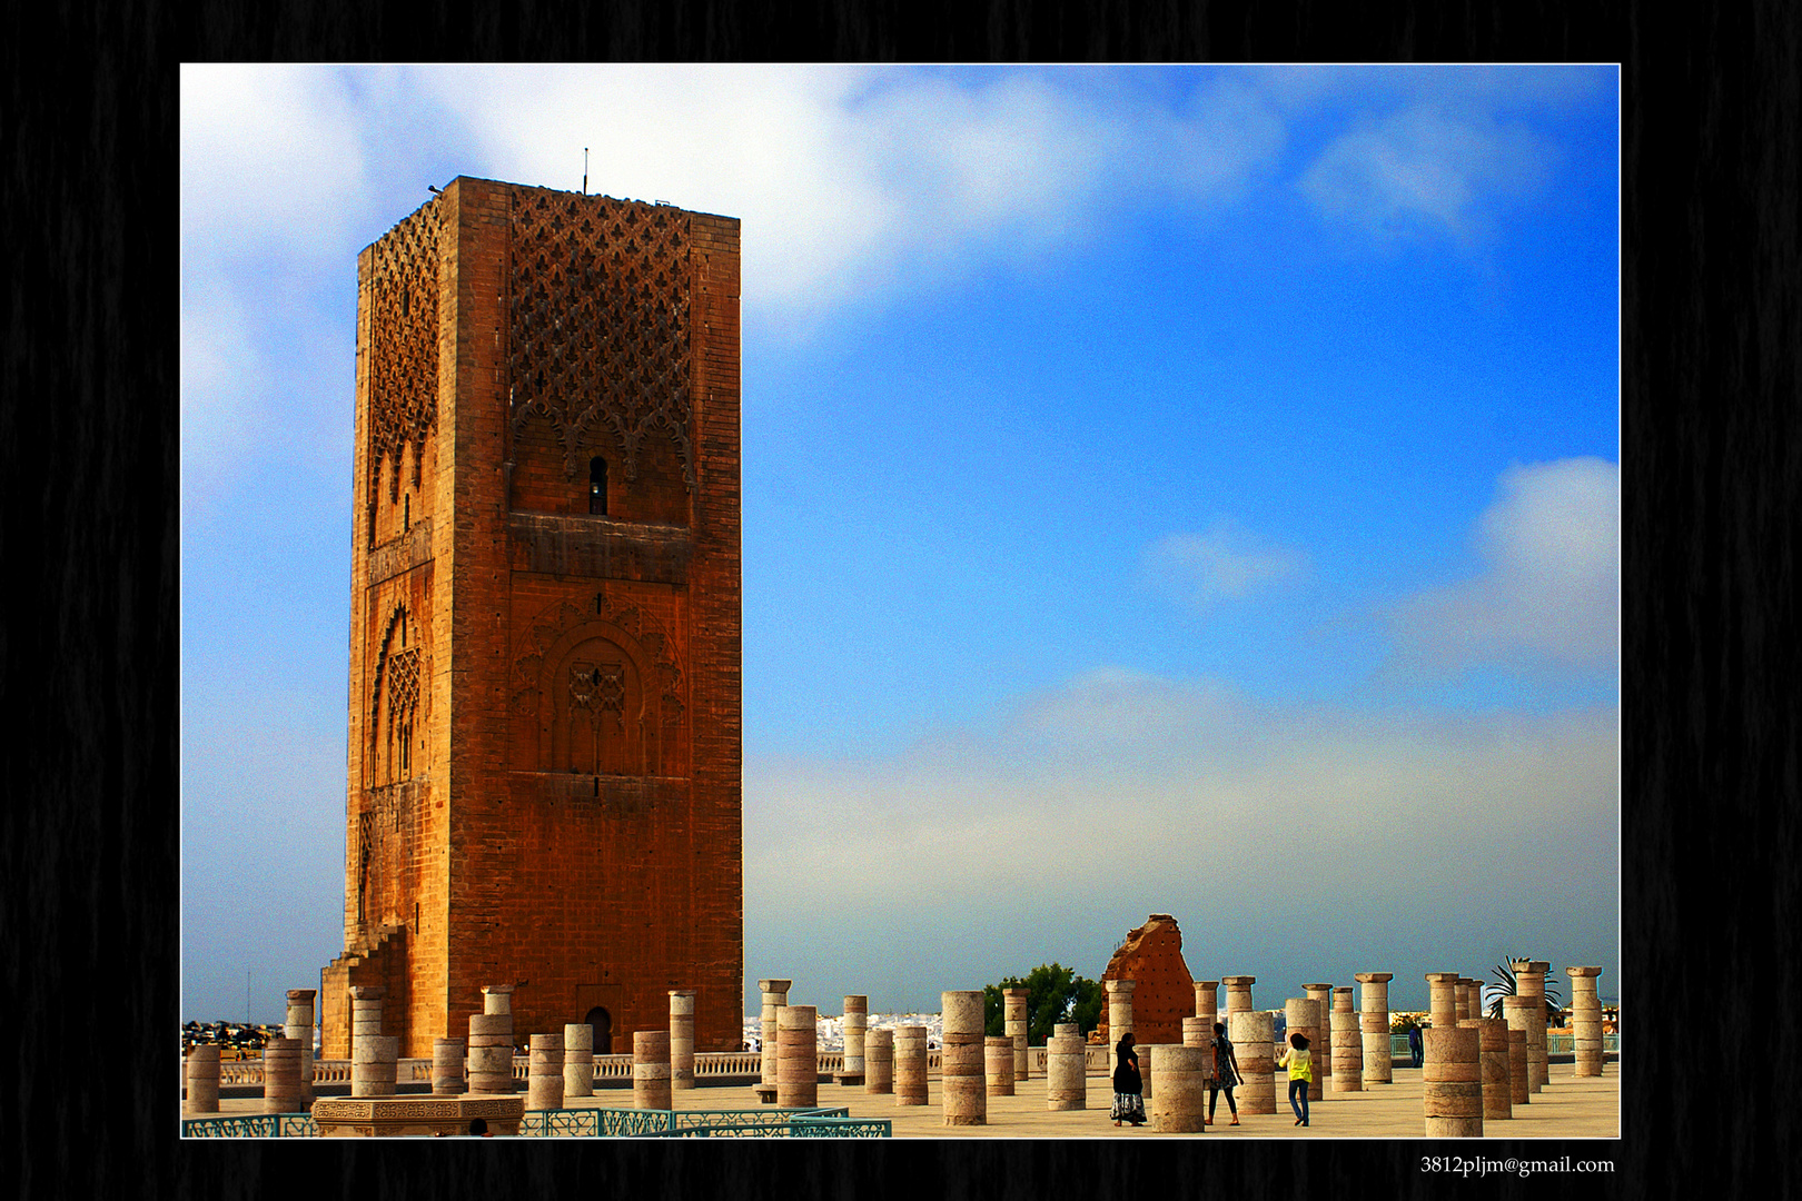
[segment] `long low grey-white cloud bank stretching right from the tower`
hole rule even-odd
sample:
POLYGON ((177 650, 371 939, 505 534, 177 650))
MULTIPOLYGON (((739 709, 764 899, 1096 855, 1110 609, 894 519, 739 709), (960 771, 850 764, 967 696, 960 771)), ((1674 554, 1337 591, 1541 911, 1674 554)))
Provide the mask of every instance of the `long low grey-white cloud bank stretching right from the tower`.
POLYGON ((1018 724, 1052 727, 1056 745, 1009 729, 957 756, 753 762, 746 891, 795 913, 1022 893, 1056 913, 1083 904, 1094 868, 1130 844, 1133 873, 1159 880, 1169 906, 1200 911, 1218 880, 1195 864, 1236 859, 1234 902, 1267 908, 1287 904, 1288 837, 1317 852, 1310 895, 1377 913, 1431 904, 1447 864, 1469 879, 1472 864, 1524 855, 1613 889, 1615 708, 1370 717, 1106 670, 1024 704, 1018 724), (1121 738, 1123 718, 1159 736, 1121 738), (1548 843, 1548 830, 1580 837, 1548 843))

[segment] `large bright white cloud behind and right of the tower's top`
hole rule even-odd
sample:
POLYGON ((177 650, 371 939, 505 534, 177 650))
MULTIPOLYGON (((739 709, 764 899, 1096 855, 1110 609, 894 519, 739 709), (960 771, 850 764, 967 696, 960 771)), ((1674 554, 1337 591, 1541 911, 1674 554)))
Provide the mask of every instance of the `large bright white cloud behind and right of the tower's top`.
POLYGON ((833 308, 1070 245, 1146 187, 1229 198, 1281 122, 1243 88, 1177 106, 1087 72, 980 81, 869 67, 432 68, 413 76, 505 176, 726 212, 744 295, 807 328, 833 308))

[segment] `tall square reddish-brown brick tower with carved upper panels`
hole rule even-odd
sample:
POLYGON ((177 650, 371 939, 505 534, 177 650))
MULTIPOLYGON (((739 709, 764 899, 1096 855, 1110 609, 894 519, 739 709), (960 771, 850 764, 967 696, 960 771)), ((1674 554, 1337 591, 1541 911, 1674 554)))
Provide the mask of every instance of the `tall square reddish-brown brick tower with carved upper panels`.
POLYGON ((357 261, 346 953, 402 1055, 741 1037, 739 221, 456 178, 357 261))

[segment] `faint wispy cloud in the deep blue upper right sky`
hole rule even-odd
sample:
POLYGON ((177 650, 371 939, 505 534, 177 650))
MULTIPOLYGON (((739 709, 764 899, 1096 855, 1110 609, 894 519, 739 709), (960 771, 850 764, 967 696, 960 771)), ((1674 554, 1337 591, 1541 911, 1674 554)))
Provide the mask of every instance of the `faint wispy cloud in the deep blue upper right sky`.
POLYGON ((1297 185, 1326 216, 1379 236, 1469 243, 1501 203, 1544 187, 1552 153, 1524 124, 1416 104, 1341 135, 1297 185))

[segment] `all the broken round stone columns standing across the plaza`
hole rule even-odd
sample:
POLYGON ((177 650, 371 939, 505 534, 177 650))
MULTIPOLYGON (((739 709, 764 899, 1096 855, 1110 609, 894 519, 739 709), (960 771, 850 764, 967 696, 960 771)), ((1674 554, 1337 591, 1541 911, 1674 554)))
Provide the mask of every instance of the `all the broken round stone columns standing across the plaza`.
MULTIPOLYGON (((1429 1134, 1451 1136, 1454 1129, 1469 1127, 1476 1118, 1506 1118, 1508 1104, 1526 1104, 1530 1095, 1550 1080, 1544 1039, 1544 974, 1543 960, 1512 963, 1515 994, 1503 998, 1505 1019, 1487 1019, 1481 1008, 1481 981, 1456 972, 1429 972, 1429 1021, 1433 1028, 1474 1030, 1476 1052, 1469 1037, 1449 1035, 1434 1039, 1429 1050, 1433 1073, 1427 1084, 1429 1134), (1463 1079, 1470 1077, 1470 1079, 1463 1079), (1469 1089, 1451 1088, 1478 1084, 1478 1111, 1470 1109, 1469 1089)), ((1600 999, 1597 996, 1598 967, 1570 967, 1571 1010, 1575 1034, 1575 1075, 1600 1075, 1600 999)), ((1352 989, 1330 983, 1303 985, 1306 998, 1285 1003, 1288 1028, 1305 1034, 1317 1048, 1315 1080, 1310 1100, 1324 1095, 1326 1075, 1333 1075, 1335 1091, 1355 1091, 1362 1084, 1391 1082, 1389 1066, 1389 972, 1361 972, 1364 985, 1362 1007, 1353 1010, 1352 989)), ((762 1079, 777 1086, 782 1106, 813 1106, 818 1100, 818 1012, 813 1007, 789 1007, 787 990, 793 981, 762 980, 764 1052, 762 1079), (784 1010, 793 1010, 784 1021, 784 1010), (784 1055, 782 1050, 787 1048, 784 1055), (784 1062, 787 1070, 784 1071, 784 1062)), ((1276 1113, 1274 1066, 1269 1062, 1270 1016, 1251 1008, 1251 985, 1256 976, 1225 976, 1220 981, 1195 981, 1193 1019, 1184 1019, 1184 1046, 1204 1048, 1213 1039, 1218 1021, 1218 987, 1227 987, 1229 1034, 1240 1048, 1240 1070, 1245 1075, 1243 1104, 1247 1113, 1276 1113), (1261 1021, 1260 1021, 1261 1017, 1261 1021)), ((1117 1037, 1132 1030, 1132 994, 1135 981, 1103 981, 1108 999, 1108 1026, 1117 1037)), ((483 989, 483 1014, 470 1016, 469 1088, 474 1093, 512 1093, 512 985, 483 989)), ((351 994, 351 1095, 393 1097, 396 1088, 398 1039, 382 1035, 384 989, 359 985, 351 994)), ((285 1037, 270 1039, 265 1048, 265 1111, 297 1113, 312 1104, 312 1003, 315 990, 288 992, 285 1037)), ((636 1032, 633 1037, 634 1104, 645 1106, 670 1089, 694 1088, 694 998, 692 989, 670 990, 670 1028, 667 1032, 636 1032)), ((1027 1079, 1025 1001, 1024 989, 1004 990, 1004 1021, 1007 1034, 986 1039, 982 1026, 982 992, 942 994, 946 1014, 944 1089, 946 1125, 978 1125, 986 1122, 986 1095, 1013 1095, 1015 1082, 1027 1079), (955 1014, 955 1017, 953 1017, 955 1014), (953 1039, 955 1053, 953 1053, 953 1039)), ((843 1082, 865 1082, 872 1093, 894 1093, 897 1104, 926 1104, 926 1037, 924 1026, 899 1030, 867 1030, 869 998, 845 998, 845 1071, 843 1082)), ((463 1091, 463 1041, 438 1039, 432 1053, 432 1091, 463 1091)), ((1151 1088, 1157 1059, 1153 1048, 1144 1048, 1146 1095, 1151 1088)), ((568 1025, 562 1035, 533 1035, 528 1075, 528 1107, 559 1107, 564 1097, 593 1095, 593 1028, 568 1025)), ((1169 1079, 1179 1079, 1188 1068, 1180 1055, 1168 1057, 1169 1079)), ((1211 1071, 1211 1064, 1204 1068, 1211 1071)), ((187 1059, 187 1113, 218 1111, 218 1048, 196 1046, 187 1059)), ((1085 1048, 1074 1026, 1060 1025, 1047 1046, 1047 1107, 1078 1109, 1087 1098, 1085 1048), (1072 1043, 1074 1041, 1074 1043, 1072 1043)), ((1175 1102, 1171 1102, 1175 1104, 1175 1102)), ((652 1107, 667 1109, 669 1104, 652 1107)), ((1175 1109, 1171 1111, 1175 1113, 1175 1109)), ((1186 1120, 1171 1116, 1171 1122, 1186 1120)), ((1173 1127, 1175 1129, 1175 1127, 1173 1127)))

